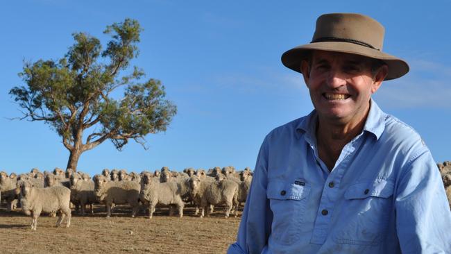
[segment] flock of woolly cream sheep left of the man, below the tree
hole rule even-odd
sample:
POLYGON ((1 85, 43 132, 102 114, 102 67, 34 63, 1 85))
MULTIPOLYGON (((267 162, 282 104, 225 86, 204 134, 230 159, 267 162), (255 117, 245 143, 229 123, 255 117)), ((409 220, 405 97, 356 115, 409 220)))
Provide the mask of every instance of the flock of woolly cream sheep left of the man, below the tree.
POLYGON ((148 208, 152 218, 155 207, 169 207, 169 215, 176 208, 179 217, 183 216, 185 204, 196 206, 196 215, 209 216, 215 206, 225 207, 225 217, 235 208, 235 217, 246 196, 252 180, 252 172, 246 168, 235 171, 234 167, 214 167, 205 171, 187 168, 183 172, 170 171, 167 167, 151 173, 127 173, 125 169, 103 169, 92 179, 87 173, 63 171, 56 168, 52 173, 31 169, 30 173, 8 175, 0 172, 0 201, 6 201, 8 211, 20 205, 25 214, 31 215, 31 229, 36 230, 37 218, 41 212, 56 216, 56 226, 67 218, 70 226, 71 205, 85 215, 86 205, 104 204, 107 217, 115 205, 130 205, 132 217, 137 215, 142 204, 148 208))

